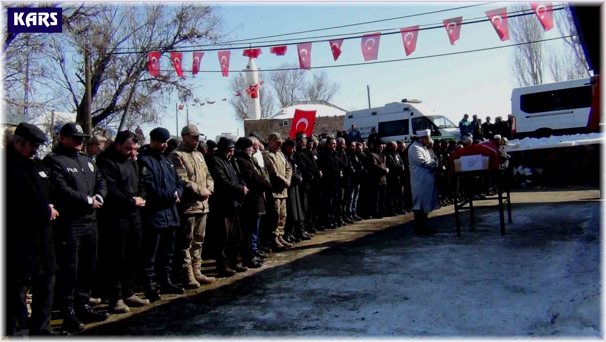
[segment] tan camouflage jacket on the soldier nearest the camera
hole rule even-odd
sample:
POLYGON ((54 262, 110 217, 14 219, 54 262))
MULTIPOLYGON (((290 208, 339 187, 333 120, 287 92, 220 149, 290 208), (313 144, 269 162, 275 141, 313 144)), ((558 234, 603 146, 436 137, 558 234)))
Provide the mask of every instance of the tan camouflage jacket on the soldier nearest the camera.
POLYGON ((203 195, 204 189, 213 192, 215 183, 208 172, 202 153, 187 146, 183 141, 179 147, 170 152, 168 159, 175 164, 177 174, 185 185, 179 212, 184 214, 208 213, 208 197, 203 195))

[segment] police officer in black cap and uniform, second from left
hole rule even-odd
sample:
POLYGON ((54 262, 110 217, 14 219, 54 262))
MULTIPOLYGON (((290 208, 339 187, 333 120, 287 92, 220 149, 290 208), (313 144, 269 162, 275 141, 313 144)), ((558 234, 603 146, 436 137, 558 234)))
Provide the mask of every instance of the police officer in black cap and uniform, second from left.
POLYGON ((62 211, 53 226, 58 254, 57 295, 64 331, 80 331, 82 323, 104 321, 107 314, 88 302, 97 259, 96 210, 107 195, 105 181, 93 159, 81 153, 88 135, 75 123, 59 131, 59 143, 44 163, 62 211))

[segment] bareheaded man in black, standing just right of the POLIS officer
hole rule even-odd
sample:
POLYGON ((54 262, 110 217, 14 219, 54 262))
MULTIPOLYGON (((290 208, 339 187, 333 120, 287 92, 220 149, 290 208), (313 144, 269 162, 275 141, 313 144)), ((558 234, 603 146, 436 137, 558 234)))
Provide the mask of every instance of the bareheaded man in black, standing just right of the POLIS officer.
POLYGON ((119 132, 96 159, 107 183, 105 205, 99 209, 99 259, 105 266, 109 309, 118 314, 150 303, 134 291, 141 247, 139 208, 145 205, 145 184, 133 160, 138 141, 133 132, 119 132))

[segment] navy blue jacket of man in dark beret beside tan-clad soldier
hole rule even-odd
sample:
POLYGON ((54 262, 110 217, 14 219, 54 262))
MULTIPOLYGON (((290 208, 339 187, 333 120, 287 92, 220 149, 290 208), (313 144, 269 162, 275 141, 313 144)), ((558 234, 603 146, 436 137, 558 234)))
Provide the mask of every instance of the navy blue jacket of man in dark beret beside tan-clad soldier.
POLYGON ((175 166, 161 150, 151 149, 149 145, 139 149, 137 164, 145 185, 145 207, 141 208, 142 227, 178 227, 180 222, 175 192, 181 198, 183 181, 177 175, 175 166))

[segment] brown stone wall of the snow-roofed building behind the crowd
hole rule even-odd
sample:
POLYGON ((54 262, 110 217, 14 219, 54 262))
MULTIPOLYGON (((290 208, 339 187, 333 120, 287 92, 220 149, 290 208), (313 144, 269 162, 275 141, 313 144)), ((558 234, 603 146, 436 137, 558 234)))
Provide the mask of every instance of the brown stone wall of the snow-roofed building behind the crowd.
MULTIPOLYGON (((338 117, 317 117, 313 133, 320 135, 324 132, 335 134, 336 131, 343 131, 344 119, 344 115, 338 117)), ((292 124, 293 119, 244 120, 244 134, 248 135, 250 132, 257 132, 261 135, 261 138, 267 139, 267 136, 271 133, 278 132, 285 138, 288 137, 292 124), (288 126, 282 126, 282 121, 288 121, 288 126)))

